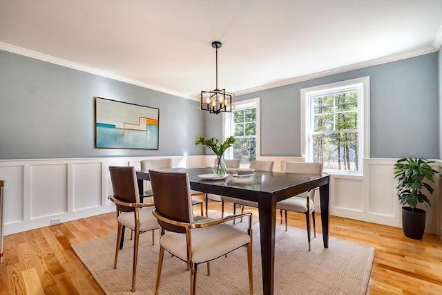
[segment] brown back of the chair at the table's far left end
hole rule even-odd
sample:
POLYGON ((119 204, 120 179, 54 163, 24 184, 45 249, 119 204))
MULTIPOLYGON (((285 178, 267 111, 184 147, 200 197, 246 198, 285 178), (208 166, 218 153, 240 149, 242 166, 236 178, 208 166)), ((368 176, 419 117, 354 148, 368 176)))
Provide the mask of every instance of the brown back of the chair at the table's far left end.
MULTIPOLYGON (((113 196, 117 200, 128 203, 140 202, 137 174, 135 173, 134 166, 109 166, 109 173, 111 173, 113 196)), ((115 205, 119 211, 135 211, 133 207, 126 207, 119 204, 115 205)))

